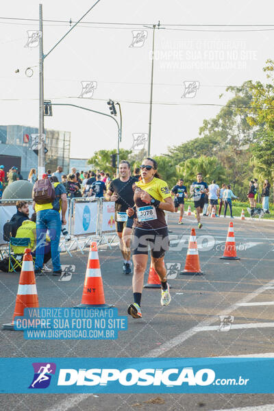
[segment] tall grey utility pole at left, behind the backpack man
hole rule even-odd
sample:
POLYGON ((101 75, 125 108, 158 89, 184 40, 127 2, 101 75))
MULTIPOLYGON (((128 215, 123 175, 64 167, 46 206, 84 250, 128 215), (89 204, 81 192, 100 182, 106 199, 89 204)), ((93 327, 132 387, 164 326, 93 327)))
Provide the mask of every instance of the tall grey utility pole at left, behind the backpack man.
POLYGON ((45 173, 45 140, 44 134, 44 53, 42 29, 42 4, 39 4, 39 138, 38 138, 38 179, 45 173))

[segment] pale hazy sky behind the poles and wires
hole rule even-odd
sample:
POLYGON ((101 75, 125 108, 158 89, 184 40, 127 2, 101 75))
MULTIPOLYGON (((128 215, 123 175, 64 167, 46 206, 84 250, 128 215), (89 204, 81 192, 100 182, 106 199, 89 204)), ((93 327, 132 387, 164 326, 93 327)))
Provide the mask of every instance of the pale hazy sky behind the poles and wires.
MULTIPOLYGON (((11 0, 2 5, 0 17, 38 19, 39 3, 47 54, 69 30, 70 19, 77 21, 95 1, 11 0)), ((214 104, 231 97, 225 87, 248 79, 266 82, 262 68, 273 58, 274 26, 256 25, 272 24, 273 11, 271 0, 100 0, 84 18, 86 24, 75 27, 45 58, 45 100, 105 114, 110 114, 108 99, 119 101, 121 147, 130 149, 133 134, 149 131, 150 27, 160 21, 155 29, 151 155, 166 153, 168 147, 199 136, 203 119, 221 109, 214 104), (133 31, 144 31, 144 38, 130 47, 133 31), (94 82, 93 94, 83 95, 82 82, 94 82), (185 93, 190 83, 195 90, 185 93)), ((27 31, 37 29, 38 21, 0 18, 1 125, 38 127, 38 47, 25 47, 27 31), (32 77, 25 75, 28 67, 32 77)), ((71 132, 71 158, 90 158, 99 149, 117 146, 112 119, 77 108, 53 106, 45 128, 71 132)))

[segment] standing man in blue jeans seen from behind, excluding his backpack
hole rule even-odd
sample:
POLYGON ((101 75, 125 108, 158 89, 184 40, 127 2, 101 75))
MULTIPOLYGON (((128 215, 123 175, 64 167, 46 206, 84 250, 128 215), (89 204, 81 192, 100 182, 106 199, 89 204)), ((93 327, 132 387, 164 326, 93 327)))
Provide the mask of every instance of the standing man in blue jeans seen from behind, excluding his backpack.
POLYGON ((55 189, 55 199, 52 203, 36 204, 34 201, 34 210, 36 211, 36 260, 35 274, 44 275, 42 271, 44 252, 46 245, 47 229, 49 230, 49 238, 51 239, 51 260, 53 264, 53 275, 61 275, 59 241, 61 235, 61 220, 60 211, 62 214, 62 222, 66 224, 66 209, 68 207, 66 201, 66 190, 63 184, 56 182, 57 178, 52 176, 49 178, 55 189))

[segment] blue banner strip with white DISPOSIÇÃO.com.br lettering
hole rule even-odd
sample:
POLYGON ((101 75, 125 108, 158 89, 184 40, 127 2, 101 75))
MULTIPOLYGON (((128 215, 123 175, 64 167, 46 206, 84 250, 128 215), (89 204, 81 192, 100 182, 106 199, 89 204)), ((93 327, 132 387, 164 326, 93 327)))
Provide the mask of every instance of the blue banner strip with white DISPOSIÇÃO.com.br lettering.
POLYGON ((0 358, 1 393, 273 393, 274 358, 0 358))

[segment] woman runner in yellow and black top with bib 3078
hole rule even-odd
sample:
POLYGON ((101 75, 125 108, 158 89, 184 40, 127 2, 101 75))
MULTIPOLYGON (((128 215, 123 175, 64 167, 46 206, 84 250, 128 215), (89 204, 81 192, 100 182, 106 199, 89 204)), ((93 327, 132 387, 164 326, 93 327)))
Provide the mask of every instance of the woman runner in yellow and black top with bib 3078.
POLYGON ((134 303, 129 305, 127 313, 134 319, 142 317, 140 303, 149 246, 153 268, 162 284, 161 305, 168 306, 171 302, 163 261, 165 251, 169 250, 169 233, 164 210, 171 212, 175 210, 169 187, 160 179, 157 172, 157 162, 152 158, 145 158, 140 169, 142 179, 132 186, 135 205, 134 208, 127 209, 127 215, 134 216, 132 232, 134 303))

